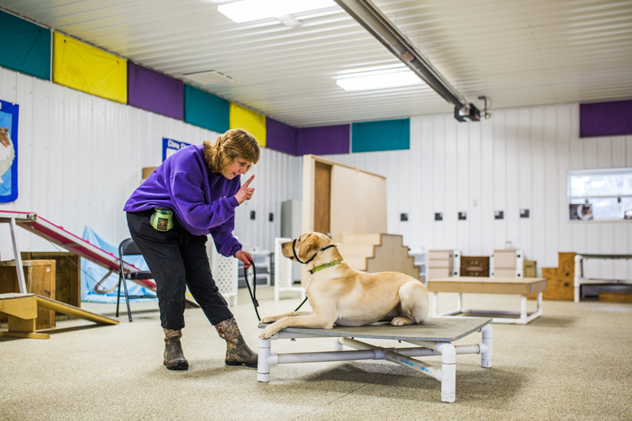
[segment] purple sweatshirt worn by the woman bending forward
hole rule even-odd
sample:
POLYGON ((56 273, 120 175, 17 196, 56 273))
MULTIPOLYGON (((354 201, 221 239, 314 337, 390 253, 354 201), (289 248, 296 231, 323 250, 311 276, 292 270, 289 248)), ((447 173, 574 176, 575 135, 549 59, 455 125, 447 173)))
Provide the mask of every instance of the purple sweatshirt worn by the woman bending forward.
POLYGON ((212 235, 217 252, 234 256, 241 250, 233 236, 235 208, 239 205, 234 195, 241 187, 240 178, 228 180, 210 172, 204 161, 204 146, 187 146, 162 162, 131 193, 123 210, 173 209, 186 231, 212 235))

